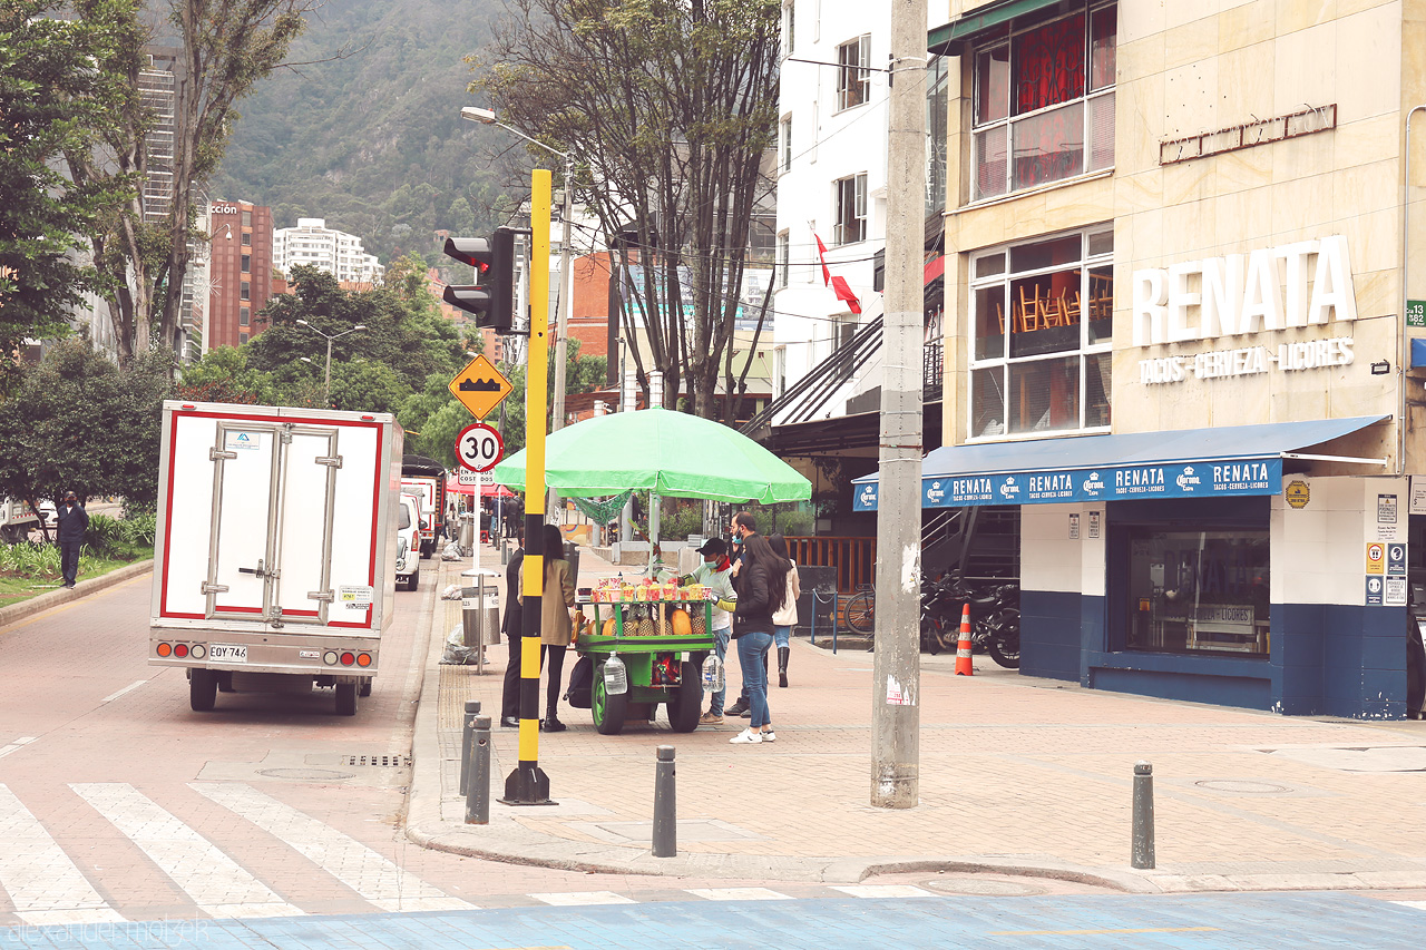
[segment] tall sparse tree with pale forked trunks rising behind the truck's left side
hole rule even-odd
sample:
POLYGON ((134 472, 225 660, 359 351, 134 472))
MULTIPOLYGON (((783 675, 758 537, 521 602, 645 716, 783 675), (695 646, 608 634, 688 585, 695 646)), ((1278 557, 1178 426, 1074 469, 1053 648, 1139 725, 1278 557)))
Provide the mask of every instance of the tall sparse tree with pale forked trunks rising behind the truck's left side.
POLYGON ((121 44, 114 67, 128 88, 114 110, 118 121, 103 130, 98 150, 66 148, 70 177, 100 190, 113 188, 116 178, 127 181, 158 168, 171 180, 170 211, 161 221, 145 221, 143 197, 135 193, 107 228, 91 231, 96 265, 113 288, 110 317, 120 355, 127 359, 148 349, 150 339, 174 341, 190 242, 207 240, 194 228, 200 187, 222 158, 238 120, 237 101, 285 60, 304 27, 302 14, 317 0, 165 0, 167 29, 175 31, 180 47, 171 157, 151 154, 145 134, 155 116, 137 91, 147 64, 144 46, 157 31, 143 20, 144 3, 70 1, 81 23, 106 23, 113 31, 121 44))

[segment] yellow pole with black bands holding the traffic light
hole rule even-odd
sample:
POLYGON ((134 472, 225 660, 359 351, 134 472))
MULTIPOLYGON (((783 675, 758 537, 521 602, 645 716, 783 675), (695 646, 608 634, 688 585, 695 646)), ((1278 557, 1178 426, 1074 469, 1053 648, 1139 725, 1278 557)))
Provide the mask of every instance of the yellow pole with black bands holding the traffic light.
POLYGON ((549 372, 550 173, 530 174, 530 345, 525 371, 525 565, 520 589, 519 762, 505 777, 505 805, 552 805, 549 777, 539 767, 539 633, 545 593, 545 377, 549 372))

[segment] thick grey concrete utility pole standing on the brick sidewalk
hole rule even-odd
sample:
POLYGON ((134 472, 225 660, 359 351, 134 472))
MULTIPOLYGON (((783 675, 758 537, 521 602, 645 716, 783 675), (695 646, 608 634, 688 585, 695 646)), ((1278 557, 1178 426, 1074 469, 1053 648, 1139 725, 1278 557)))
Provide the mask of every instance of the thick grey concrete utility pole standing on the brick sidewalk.
POLYGON ((925 3, 891 3, 886 369, 877 484, 871 805, 911 809, 921 767, 921 347, 925 290, 925 3))

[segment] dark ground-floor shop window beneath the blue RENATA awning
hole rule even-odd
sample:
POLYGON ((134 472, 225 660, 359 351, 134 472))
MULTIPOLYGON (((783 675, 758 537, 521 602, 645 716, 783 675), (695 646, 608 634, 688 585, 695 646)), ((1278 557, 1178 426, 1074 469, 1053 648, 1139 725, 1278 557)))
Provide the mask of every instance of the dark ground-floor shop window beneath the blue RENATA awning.
POLYGON ((1125 646, 1268 655, 1268 531, 1128 529, 1125 646))

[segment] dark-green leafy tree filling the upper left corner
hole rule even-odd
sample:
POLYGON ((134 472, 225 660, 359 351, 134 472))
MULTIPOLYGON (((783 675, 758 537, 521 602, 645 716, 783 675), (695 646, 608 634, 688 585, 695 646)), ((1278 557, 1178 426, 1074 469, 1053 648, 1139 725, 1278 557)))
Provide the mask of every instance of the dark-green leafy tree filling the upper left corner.
MULTIPOLYGON (((0 4, 0 354, 26 337, 68 332, 68 314, 101 284, 74 260, 83 234, 134 191, 134 181, 74 183, 56 167, 113 126, 125 96, 108 24, 131 3, 94 3, 91 21, 48 19, 53 0, 0 4)), ((0 391, 14 371, 0 359, 0 391)))

